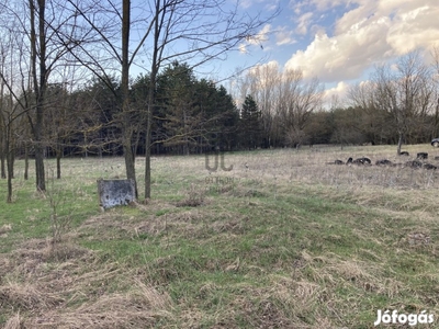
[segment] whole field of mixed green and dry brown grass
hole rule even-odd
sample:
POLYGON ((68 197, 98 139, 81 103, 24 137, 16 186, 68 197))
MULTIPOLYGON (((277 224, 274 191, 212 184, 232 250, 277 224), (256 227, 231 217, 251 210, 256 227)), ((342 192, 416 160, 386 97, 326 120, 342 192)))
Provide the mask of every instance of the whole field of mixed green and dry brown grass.
POLYGON ((439 328, 439 170, 327 164, 414 159, 395 152, 226 154, 233 170, 212 173, 158 157, 148 204, 104 213, 97 180, 123 159, 65 159, 61 180, 47 160, 45 195, 18 161, 12 204, 0 181, 0 327, 374 328, 390 309, 439 328))

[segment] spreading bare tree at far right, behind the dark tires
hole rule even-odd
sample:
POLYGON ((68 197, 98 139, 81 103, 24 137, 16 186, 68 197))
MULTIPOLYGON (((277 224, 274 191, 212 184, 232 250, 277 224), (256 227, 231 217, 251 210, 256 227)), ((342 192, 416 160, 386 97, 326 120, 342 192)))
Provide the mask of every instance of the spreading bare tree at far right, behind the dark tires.
MULTIPOLYGON (((431 127, 429 115, 439 117, 438 89, 434 67, 424 64, 418 50, 408 53, 393 65, 375 68, 368 82, 352 87, 348 98, 369 117, 374 137, 391 140, 397 135, 397 154, 403 143, 431 127)), ((365 123, 365 122, 364 122, 365 123)), ((374 138, 375 139, 375 138, 374 138)))

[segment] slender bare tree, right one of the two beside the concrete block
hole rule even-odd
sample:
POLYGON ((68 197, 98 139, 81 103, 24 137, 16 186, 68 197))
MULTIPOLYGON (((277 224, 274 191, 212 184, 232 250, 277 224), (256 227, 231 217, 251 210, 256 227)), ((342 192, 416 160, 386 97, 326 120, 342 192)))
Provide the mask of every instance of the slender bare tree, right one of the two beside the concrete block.
POLYGON ((175 59, 198 67, 206 61, 226 59, 227 53, 251 38, 267 18, 239 14, 239 2, 233 7, 225 0, 155 0, 151 7, 154 25, 150 54, 150 87, 147 109, 145 198, 150 197, 151 121, 155 106, 156 78, 159 69, 175 59))

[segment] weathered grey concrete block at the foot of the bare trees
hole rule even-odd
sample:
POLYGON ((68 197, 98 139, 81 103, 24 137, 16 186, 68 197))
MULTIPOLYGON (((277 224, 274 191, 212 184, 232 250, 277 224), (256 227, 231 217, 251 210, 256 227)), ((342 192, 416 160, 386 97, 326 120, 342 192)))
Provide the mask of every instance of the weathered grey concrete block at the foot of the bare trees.
POLYGON ((136 200, 134 180, 98 180, 99 205, 104 209, 136 200))

